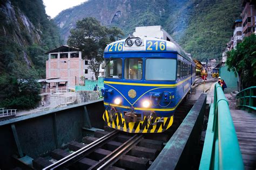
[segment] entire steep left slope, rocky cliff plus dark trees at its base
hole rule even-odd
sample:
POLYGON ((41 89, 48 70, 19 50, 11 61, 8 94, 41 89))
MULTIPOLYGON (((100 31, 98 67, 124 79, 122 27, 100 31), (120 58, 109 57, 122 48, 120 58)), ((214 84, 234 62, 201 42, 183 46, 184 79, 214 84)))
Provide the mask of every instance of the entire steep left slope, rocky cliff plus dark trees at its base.
POLYGON ((34 108, 36 80, 45 77, 43 54, 61 44, 58 27, 42 0, 1 0, 0 8, 0 108, 34 108))

